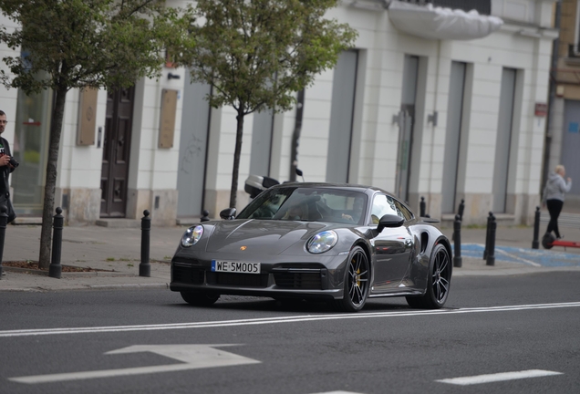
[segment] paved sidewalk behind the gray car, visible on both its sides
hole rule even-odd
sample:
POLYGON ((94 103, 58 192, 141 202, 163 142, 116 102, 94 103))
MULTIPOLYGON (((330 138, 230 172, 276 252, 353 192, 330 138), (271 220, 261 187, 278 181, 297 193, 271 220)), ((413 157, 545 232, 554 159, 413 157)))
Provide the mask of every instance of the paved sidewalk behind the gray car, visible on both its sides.
MULTIPOLYGON (((139 276, 141 230, 99 226, 65 227, 62 265, 102 271, 62 273, 61 279, 26 274, 3 264, 0 291, 57 291, 72 289, 169 288, 170 261, 186 227, 151 228, 150 277, 139 276)), ((443 228, 451 239, 451 228, 443 228)), ((485 228, 461 229, 461 275, 517 275, 548 270, 580 270, 580 249, 532 249, 532 227, 497 230, 495 264, 482 259, 485 228)), ((566 239, 580 241, 580 229, 567 229, 566 239)), ((9 225, 5 233, 3 262, 37 261, 39 225, 9 225)))

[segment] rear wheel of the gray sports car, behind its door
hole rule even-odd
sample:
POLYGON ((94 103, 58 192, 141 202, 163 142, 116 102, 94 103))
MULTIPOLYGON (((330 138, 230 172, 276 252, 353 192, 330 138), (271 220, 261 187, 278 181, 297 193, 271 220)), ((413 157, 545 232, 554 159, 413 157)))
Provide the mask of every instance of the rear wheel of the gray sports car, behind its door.
POLYGON ((433 248, 429 264, 427 290, 423 296, 407 296, 413 308, 440 309, 445 305, 451 285, 451 258, 442 244, 433 248))

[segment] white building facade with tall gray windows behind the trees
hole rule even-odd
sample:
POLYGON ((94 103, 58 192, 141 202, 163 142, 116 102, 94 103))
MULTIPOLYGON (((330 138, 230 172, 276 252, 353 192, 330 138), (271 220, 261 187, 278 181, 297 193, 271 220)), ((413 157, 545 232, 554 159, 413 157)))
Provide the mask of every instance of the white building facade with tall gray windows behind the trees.
MULTIPOLYGON (((464 223, 484 223, 490 211, 533 223, 553 8, 553 0, 341 2, 328 16, 357 29, 356 46, 297 95, 294 110, 245 118, 237 208, 249 201, 249 174, 287 181, 297 166, 306 181, 371 184, 417 211, 422 197, 431 217, 451 220, 464 200, 464 223), (451 29, 433 25, 441 12, 451 29)), ((67 223, 149 210, 153 224, 174 225, 227 208, 236 119, 231 108, 209 108, 211 92, 172 67, 123 91, 71 91, 56 199, 67 223)), ((16 213, 39 217, 52 96, 0 95, 11 120, 5 138, 21 162, 16 213)))

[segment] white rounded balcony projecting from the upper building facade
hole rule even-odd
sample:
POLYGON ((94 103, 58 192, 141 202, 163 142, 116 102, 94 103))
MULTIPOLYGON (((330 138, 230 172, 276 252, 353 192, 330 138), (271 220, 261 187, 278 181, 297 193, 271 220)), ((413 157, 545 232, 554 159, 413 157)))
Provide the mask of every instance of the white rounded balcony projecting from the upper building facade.
POLYGON ((477 11, 414 5, 393 1, 388 18, 399 30, 430 39, 471 40, 489 36, 503 25, 497 16, 482 16, 477 11))

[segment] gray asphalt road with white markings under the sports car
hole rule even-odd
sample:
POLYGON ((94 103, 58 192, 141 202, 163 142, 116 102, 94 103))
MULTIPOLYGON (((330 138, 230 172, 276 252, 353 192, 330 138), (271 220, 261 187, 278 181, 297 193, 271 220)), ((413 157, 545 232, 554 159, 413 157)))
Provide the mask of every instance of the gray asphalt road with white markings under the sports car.
POLYGON ((456 277, 444 310, 388 298, 358 314, 233 296, 196 308, 162 290, 4 293, 0 393, 577 393, 578 283, 456 277))

